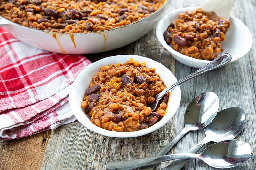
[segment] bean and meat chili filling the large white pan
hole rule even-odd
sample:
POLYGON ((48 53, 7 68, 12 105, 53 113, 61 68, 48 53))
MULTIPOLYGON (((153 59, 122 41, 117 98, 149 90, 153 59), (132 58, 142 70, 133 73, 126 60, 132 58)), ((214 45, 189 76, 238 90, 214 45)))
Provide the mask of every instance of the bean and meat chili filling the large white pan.
POLYGON ((0 15, 30 28, 90 33, 137 22, 165 0, 1 0, 0 15))

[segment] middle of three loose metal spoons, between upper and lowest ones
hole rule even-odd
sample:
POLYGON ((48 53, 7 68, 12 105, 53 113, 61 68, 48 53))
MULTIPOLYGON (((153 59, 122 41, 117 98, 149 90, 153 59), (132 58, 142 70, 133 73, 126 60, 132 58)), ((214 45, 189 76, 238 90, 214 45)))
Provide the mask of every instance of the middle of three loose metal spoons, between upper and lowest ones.
MULTIPOLYGON (((245 122, 245 112, 240 107, 231 107, 218 112, 214 120, 204 129, 206 137, 188 150, 196 153, 208 142, 220 142, 234 139, 242 130, 245 122)), ((180 170, 189 159, 173 161, 166 169, 180 170)))

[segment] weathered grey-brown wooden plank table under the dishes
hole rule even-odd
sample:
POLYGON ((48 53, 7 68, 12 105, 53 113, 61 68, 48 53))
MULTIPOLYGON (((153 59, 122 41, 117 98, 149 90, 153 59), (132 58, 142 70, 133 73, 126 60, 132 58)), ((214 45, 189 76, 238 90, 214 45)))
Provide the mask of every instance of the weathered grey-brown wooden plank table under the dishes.
MULTIPOLYGON (((198 6, 203 0, 172 0, 171 10, 198 6)), ((256 32, 256 1, 236 0, 231 14, 256 32)), ((237 37, 239 41, 239 37, 237 37)), ((256 169, 256 48, 240 60, 180 85, 181 103, 176 115, 162 128, 141 137, 113 138, 92 132, 78 121, 63 125, 53 132, 46 131, 19 140, 0 143, 0 169, 104 169, 107 161, 138 159, 154 156, 184 127, 183 115, 188 103, 199 93, 215 92, 220 99, 220 110, 241 107, 246 112, 246 122, 236 139, 251 145, 252 156, 234 169, 256 169)), ((92 62, 103 57, 131 54, 152 58, 169 68, 177 79, 196 69, 175 61, 158 42, 153 28, 147 35, 123 48, 100 54, 86 55, 92 62)), ((188 151, 205 137, 204 131, 189 132, 178 142, 171 153, 188 151)), ((163 169, 169 162, 159 164, 163 169)), ((214 169, 199 160, 191 160, 185 169, 214 169)))

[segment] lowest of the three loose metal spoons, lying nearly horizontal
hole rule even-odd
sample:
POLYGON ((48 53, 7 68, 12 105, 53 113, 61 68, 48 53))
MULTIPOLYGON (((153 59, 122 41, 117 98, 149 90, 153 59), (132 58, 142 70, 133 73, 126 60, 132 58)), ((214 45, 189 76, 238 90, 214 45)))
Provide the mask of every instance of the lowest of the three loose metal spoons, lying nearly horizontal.
POLYGON ((249 144, 240 140, 229 140, 212 144, 200 154, 178 153, 136 160, 109 162, 105 167, 107 170, 128 170, 172 159, 195 158, 215 168, 232 168, 244 163, 251 156, 251 153, 252 148, 249 144))

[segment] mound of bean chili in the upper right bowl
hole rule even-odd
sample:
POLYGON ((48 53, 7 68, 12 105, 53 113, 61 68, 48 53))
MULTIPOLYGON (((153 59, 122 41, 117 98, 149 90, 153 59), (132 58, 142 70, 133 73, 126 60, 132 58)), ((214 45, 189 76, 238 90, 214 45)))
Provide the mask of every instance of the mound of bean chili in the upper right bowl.
POLYGON ((230 21, 214 12, 201 9, 186 11, 171 22, 164 32, 168 45, 183 55, 196 59, 213 60, 223 51, 221 42, 230 28, 230 21))

